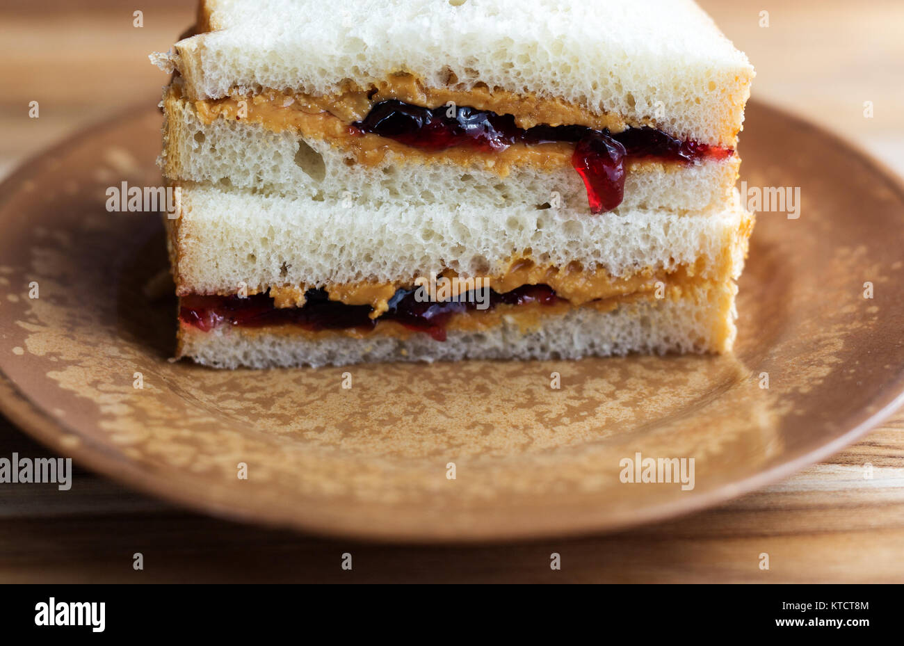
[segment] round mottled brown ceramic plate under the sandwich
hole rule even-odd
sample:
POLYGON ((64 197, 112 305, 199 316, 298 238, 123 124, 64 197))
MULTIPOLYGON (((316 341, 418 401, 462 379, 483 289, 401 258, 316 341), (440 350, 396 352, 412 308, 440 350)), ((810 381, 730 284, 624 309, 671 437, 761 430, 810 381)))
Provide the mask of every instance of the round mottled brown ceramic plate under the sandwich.
POLYGON ((159 139, 157 111, 130 113, 0 188, 0 407, 61 454, 197 510, 419 541, 614 529, 822 459, 904 389, 902 184, 772 108, 749 107, 743 177, 799 187, 800 217, 759 214, 725 357, 170 362, 174 299, 144 291, 165 267, 159 218, 105 209, 109 186, 160 183, 159 139), (636 452, 694 458, 693 489, 622 483, 636 452))

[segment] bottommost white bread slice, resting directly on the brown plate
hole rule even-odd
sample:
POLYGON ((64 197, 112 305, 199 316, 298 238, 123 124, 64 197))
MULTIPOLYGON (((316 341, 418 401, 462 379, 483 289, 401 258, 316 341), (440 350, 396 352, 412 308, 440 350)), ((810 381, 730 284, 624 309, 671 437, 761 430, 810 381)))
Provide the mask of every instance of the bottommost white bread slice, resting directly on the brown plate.
POLYGON ((524 332, 504 322, 480 332, 449 331, 445 342, 415 332, 407 338, 334 334, 312 340, 285 328, 180 326, 179 357, 214 368, 344 366, 372 361, 579 359, 628 352, 725 352, 735 338, 732 281, 690 291, 680 300, 645 300, 601 312, 578 307, 541 318, 524 332))

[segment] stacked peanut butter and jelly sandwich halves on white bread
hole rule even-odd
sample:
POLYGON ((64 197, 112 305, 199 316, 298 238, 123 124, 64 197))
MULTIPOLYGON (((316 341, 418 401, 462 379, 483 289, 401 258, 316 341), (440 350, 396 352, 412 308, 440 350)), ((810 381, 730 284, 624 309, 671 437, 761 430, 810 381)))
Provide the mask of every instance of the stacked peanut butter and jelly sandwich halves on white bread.
POLYGON ((690 0, 206 0, 152 60, 180 356, 731 348, 753 69, 690 0))

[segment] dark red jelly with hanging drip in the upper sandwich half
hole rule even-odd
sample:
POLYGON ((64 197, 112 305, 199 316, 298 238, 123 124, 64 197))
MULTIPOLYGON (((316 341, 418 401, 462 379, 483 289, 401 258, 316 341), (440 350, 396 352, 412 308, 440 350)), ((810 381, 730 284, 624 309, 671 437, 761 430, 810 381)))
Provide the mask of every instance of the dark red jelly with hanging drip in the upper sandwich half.
POLYGON ((573 143, 576 146, 571 164, 587 187, 593 213, 611 211, 621 203, 625 192, 626 158, 652 157, 693 163, 702 159, 725 159, 732 154, 729 148, 683 141, 647 126, 629 127, 616 134, 585 126, 524 129, 515 125, 512 115, 467 107, 420 108, 396 99, 375 104, 367 117, 353 126, 363 133, 389 137, 428 151, 469 145, 493 152, 513 144, 573 143))

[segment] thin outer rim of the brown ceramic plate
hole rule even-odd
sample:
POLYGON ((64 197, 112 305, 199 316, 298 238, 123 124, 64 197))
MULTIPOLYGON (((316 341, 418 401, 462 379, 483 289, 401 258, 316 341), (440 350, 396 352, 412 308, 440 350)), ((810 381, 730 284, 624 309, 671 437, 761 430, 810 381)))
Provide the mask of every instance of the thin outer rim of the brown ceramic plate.
MULTIPOLYGON (((795 112, 784 107, 756 99, 751 99, 751 103, 775 113, 777 116, 792 122, 795 126, 816 132, 820 136, 833 141, 836 145, 842 146, 849 153, 856 156, 860 163, 875 171, 877 178, 881 177, 882 180, 888 183, 899 198, 899 201, 904 204, 904 178, 892 169, 889 164, 865 151, 859 142, 854 142, 846 136, 839 135, 806 117, 798 116, 795 112)), ((13 173, 10 173, 0 182, 0 205, 3 205, 12 194, 19 190, 18 184, 22 183, 25 177, 40 173, 38 166, 47 157, 58 151, 66 150, 72 145, 78 145, 99 131, 134 119, 147 111, 148 105, 146 102, 136 103, 120 110, 112 117, 95 122, 70 136, 66 136, 60 142, 42 149, 37 154, 26 157, 21 164, 15 167, 13 173)), ((193 495, 188 495, 183 488, 178 485, 170 486, 168 484, 169 481, 165 479, 155 478, 142 470, 127 468, 127 465, 131 462, 127 458, 123 459, 123 454, 117 453, 118 457, 114 457, 105 445, 100 444, 92 437, 83 435, 78 429, 69 426, 65 420, 53 417, 49 411, 38 406, 2 369, 0 369, 0 412, 14 424, 17 431, 29 435, 52 451, 64 451, 67 456, 71 456, 73 461, 84 466, 89 471, 99 473, 103 477, 124 484, 137 492, 173 503, 184 510, 200 512, 222 520, 263 525, 270 528, 294 529, 328 538, 353 538, 376 543, 489 544, 542 538, 579 538, 611 533, 654 521, 671 520, 680 516, 686 516, 761 489, 785 479, 806 466, 824 460, 824 458, 841 451, 848 445, 852 445, 875 426, 880 425, 889 418, 899 407, 904 406, 904 378, 899 378, 897 381, 893 380, 889 383, 894 384, 895 388, 891 389, 892 394, 880 398, 879 408, 845 430, 841 435, 836 436, 833 440, 815 446, 805 454, 798 455, 792 460, 778 463, 740 481, 722 484, 709 492, 689 498, 682 504, 675 504, 671 501, 650 505, 636 512, 628 520, 616 520, 609 523, 591 519, 589 521, 572 523, 569 526, 560 524, 557 528, 513 529, 507 532, 497 530, 491 534, 482 534, 479 530, 470 534, 450 535, 435 535, 400 528, 384 531, 380 528, 371 527, 365 530, 353 524, 336 522, 335 519, 331 522, 324 519, 302 518, 299 515, 280 513, 279 508, 259 507, 250 509, 230 506, 211 497, 205 497, 204 492, 193 492, 193 495), (78 438, 78 445, 61 446, 61 439, 67 435, 78 438)))

